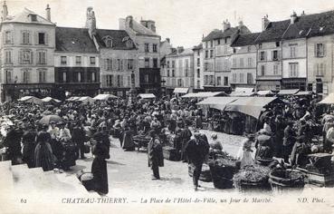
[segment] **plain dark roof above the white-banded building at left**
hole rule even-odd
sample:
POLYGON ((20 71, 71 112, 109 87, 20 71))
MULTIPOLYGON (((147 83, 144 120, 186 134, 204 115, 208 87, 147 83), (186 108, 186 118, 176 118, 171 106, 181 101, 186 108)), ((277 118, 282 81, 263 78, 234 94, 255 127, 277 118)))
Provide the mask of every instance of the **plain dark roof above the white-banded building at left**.
POLYGON ((58 52, 98 53, 86 28, 56 27, 55 43, 58 52))

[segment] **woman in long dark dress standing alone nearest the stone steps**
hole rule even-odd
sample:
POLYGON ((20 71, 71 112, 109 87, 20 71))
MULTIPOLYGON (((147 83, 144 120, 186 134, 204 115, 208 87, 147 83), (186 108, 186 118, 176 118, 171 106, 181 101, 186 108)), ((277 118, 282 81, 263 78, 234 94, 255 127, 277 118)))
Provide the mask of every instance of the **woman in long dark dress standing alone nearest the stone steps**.
POLYGON ((92 147, 91 153, 94 156, 91 163, 92 190, 97 191, 100 195, 106 195, 109 192, 107 161, 105 160, 108 151, 102 143, 97 142, 92 147))

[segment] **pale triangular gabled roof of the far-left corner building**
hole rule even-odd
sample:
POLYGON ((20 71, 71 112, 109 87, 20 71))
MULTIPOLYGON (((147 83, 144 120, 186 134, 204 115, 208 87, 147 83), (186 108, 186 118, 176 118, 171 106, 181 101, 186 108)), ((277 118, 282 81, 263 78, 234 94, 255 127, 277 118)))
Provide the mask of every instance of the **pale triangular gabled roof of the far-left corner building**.
POLYGON ((49 20, 41 15, 35 14, 33 11, 24 8, 24 10, 17 15, 8 15, 3 23, 29 23, 29 24, 47 24, 54 25, 49 20), (36 15, 37 21, 32 21, 29 15, 36 15))

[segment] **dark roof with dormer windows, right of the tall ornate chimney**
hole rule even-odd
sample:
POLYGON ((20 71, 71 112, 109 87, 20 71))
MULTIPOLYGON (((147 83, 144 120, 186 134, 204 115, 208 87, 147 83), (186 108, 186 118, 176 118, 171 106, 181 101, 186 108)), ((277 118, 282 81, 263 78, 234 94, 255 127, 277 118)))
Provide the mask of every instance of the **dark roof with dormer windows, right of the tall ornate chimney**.
POLYGON ((110 47, 110 49, 117 49, 117 50, 136 49, 135 45, 133 45, 132 47, 127 47, 126 41, 131 40, 131 38, 129 37, 129 34, 126 31, 97 29, 96 34, 95 34, 95 38, 96 38, 98 44, 100 45, 100 47, 106 47, 106 44, 103 41, 105 36, 110 36, 111 39, 112 39, 112 48, 110 47))

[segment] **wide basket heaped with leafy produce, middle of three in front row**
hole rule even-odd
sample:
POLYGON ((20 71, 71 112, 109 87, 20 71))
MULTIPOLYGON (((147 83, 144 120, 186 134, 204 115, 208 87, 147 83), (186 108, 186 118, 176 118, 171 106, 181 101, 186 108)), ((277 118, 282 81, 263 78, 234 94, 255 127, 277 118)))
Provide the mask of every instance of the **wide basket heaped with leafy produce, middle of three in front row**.
POLYGON ((269 190, 270 169, 260 165, 245 166, 234 174, 234 187, 239 190, 269 190))

